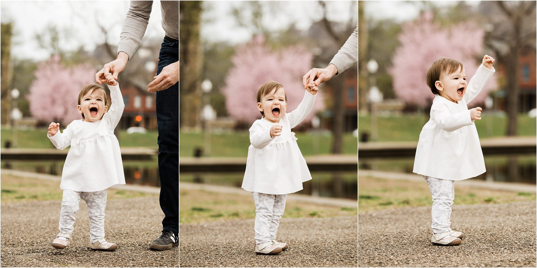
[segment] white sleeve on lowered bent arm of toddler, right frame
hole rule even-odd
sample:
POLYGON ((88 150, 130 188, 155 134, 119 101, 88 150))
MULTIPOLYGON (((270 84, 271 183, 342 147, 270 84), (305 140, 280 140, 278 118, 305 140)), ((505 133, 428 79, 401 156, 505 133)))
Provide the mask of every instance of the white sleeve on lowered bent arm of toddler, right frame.
POLYGON ((431 107, 431 118, 442 130, 451 132, 462 128, 465 125, 471 125, 473 122, 470 117, 470 110, 461 111, 460 113, 451 114, 444 103, 431 107))

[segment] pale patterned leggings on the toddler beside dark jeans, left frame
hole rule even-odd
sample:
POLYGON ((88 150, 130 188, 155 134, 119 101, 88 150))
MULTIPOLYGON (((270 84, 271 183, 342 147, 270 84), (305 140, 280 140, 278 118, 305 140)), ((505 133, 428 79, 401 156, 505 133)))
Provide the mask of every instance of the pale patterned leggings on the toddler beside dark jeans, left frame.
POLYGON ((104 209, 106 207, 106 189, 97 192, 76 192, 63 190, 62 210, 60 212, 60 232, 71 234, 74 229, 75 216, 80 199, 88 204, 90 217, 90 243, 104 238, 104 209))

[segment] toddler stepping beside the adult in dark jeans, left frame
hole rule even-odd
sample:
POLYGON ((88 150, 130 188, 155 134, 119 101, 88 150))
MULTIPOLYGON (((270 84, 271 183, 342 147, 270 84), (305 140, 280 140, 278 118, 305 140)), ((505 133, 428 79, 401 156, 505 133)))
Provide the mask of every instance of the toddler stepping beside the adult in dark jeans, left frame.
POLYGON ((90 248, 112 251, 118 247, 104 239, 104 209, 106 189, 125 184, 119 142, 114 135, 125 104, 117 81, 111 75, 106 80, 113 102, 110 110, 103 88, 87 85, 78 94, 78 112, 82 120, 72 121, 63 133, 59 132, 59 123, 48 126, 47 136, 56 148, 63 150, 71 146, 60 183, 63 189, 60 233, 52 242, 57 249, 64 249, 69 244, 81 198, 88 204, 90 248))

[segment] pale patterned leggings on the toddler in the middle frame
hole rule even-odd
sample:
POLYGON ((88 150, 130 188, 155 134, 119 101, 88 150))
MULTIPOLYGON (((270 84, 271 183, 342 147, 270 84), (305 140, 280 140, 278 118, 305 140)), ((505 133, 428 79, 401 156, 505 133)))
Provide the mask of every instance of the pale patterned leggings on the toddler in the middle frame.
POLYGON ((270 195, 268 193, 252 192, 253 202, 256 203, 256 243, 261 244, 276 239, 281 216, 284 215, 286 195, 270 195))

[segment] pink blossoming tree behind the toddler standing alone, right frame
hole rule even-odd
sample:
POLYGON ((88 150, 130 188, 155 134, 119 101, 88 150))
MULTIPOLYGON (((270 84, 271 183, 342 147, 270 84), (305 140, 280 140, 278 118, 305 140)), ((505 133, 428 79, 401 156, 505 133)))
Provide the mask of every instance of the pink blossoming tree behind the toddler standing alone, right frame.
MULTIPOLYGON (((402 27, 402 33, 398 36, 401 46, 396 49, 393 66, 388 69, 397 97, 419 107, 427 106, 434 98, 425 83, 427 69, 434 61, 448 57, 462 62, 469 82, 484 56, 484 32, 475 24, 461 23, 451 28, 441 28, 432 19, 432 12, 425 12, 416 21, 402 27)), ((493 77, 468 107, 482 103, 496 88, 496 79, 493 77)))

